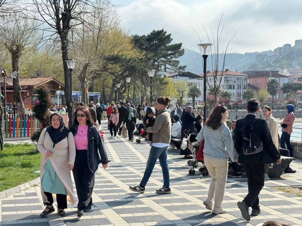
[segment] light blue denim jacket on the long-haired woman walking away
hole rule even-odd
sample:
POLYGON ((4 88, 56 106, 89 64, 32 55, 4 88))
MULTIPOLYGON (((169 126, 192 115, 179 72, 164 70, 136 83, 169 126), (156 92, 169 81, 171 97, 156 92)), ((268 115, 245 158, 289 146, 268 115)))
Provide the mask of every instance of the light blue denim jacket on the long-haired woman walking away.
POLYGON ((204 156, 210 159, 228 159, 233 162, 238 160, 238 153, 234 148, 231 131, 225 122, 217 130, 213 130, 207 125, 203 126, 196 139, 200 142, 204 140, 204 156))

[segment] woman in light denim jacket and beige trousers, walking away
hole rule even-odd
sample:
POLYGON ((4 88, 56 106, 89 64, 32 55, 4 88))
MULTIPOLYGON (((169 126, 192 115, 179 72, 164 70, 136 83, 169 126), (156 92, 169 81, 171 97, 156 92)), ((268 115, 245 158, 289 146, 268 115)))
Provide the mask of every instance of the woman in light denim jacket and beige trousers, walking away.
POLYGON ((198 141, 204 140, 204 163, 212 177, 208 198, 203 203, 214 214, 228 212, 221 206, 226 187, 228 158, 231 157, 234 162, 238 159, 231 131, 225 122, 227 116, 227 108, 217 105, 196 137, 198 141))

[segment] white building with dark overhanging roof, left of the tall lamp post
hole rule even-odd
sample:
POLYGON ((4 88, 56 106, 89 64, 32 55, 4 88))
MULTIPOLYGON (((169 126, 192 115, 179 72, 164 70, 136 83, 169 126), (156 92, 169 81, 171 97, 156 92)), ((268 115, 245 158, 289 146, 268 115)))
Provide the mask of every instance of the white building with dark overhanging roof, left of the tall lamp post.
MULTIPOLYGON (((192 98, 185 96, 183 99, 186 101, 186 104, 192 105, 203 105, 204 104, 204 74, 197 75, 186 71, 181 74, 166 74, 166 77, 172 78, 173 80, 178 81, 187 81, 189 83, 189 87, 196 85, 201 92, 201 96, 195 98, 195 103, 192 103, 192 98)), ((171 105, 176 104, 177 100, 171 100, 171 105)))

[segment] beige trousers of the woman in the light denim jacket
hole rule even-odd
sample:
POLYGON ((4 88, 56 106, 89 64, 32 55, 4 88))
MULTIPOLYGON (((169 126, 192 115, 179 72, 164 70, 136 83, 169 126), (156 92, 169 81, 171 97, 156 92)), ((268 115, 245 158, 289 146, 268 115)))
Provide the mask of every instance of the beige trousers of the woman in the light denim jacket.
POLYGON ((212 177, 208 195, 215 197, 214 205, 220 207, 226 188, 228 161, 227 159, 210 159, 204 156, 204 164, 212 177))

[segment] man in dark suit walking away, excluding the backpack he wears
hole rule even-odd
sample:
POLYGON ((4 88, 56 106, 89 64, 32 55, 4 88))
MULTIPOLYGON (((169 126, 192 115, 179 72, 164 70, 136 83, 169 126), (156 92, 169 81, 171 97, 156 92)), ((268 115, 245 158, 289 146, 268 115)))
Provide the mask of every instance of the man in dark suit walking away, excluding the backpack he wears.
POLYGON ((265 163, 277 162, 277 164, 279 164, 281 163, 281 156, 271 140, 271 134, 266 121, 264 119, 256 118, 256 113, 259 111, 259 101, 250 99, 247 102, 246 110, 248 111, 246 117, 236 121, 234 144, 236 151, 239 153, 238 164, 242 164, 246 171, 249 190, 246 197, 242 202, 238 202, 237 206, 240 209, 243 218, 246 221, 250 221, 250 206, 252 207, 251 215, 257 216, 261 213, 258 195, 264 186, 265 163), (259 120, 256 121, 257 119, 259 120), (243 153, 241 128, 250 125, 253 122, 255 122, 255 131, 262 140, 263 150, 256 154, 245 155, 243 153))

